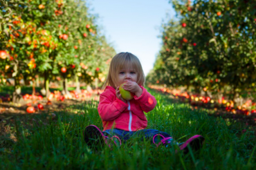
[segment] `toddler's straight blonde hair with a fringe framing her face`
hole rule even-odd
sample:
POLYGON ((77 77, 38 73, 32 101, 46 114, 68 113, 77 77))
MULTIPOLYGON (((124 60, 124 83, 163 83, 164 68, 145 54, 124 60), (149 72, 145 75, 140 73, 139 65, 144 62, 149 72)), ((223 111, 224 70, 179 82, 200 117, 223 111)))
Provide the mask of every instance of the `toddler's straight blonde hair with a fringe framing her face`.
POLYGON ((113 88, 116 88, 116 84, 118 84, 118 73, 121 69, 127 66, 132 66, 134 70, 136 70, 138 73, 137 84, 144 86, 145 75, 143 72, 143 67, 140 64, 140 60, 135 55, 126 52, 118 53, 111 59, 109 73, 107 75, 106 82, 102 86, 102 90, 104 90, 106 86, 112 86, 113 88))

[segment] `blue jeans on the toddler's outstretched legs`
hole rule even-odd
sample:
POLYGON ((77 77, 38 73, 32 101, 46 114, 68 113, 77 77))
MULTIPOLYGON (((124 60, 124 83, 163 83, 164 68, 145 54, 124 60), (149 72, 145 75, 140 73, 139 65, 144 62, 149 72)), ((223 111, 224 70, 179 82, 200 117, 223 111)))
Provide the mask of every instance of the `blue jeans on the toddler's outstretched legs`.
MULTIPOLYGON (((165 138, 172 137, 168 133, 165 133, 163 131, 158 131, 156 129, 143 129, 143 130, 140 130, 140 131, 124 131, 124 130, 121 130, 121 129, 113 129, 113 130, 108 129, 106 131, 103 131, 103 133, 104 133, 104 135, 107 135, 109 137, 111 137, 113 135, 117 135, 118 138, 120 138, 120 140, 122 142, 126 142, 127 140, 129 140, 129 138, 132 138, 132 137, 140 137, 140 140, 143 140, 143 138, 146 138, 146 140, 150 140, 152 144, 153 144, 153 137, 156 134, 161 134, 165 138)), ((158 137, 160 137, 160 136, 158 136, 158 137)), ((156 144, 158 144, 158 142, 160 142, 160 140, 163 140, 163 138, 161 138, 161 137, 160 138, 155 138, 154 142, 156 144)), ((167 141, 174 142, 173 139, 169 139, 167 141)))

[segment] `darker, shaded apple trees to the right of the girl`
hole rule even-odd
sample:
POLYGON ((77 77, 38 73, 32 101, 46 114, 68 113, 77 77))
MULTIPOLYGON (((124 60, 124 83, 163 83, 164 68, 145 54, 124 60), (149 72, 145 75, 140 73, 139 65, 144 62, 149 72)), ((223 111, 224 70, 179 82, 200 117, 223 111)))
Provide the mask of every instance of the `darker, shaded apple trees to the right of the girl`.
POLYGON ((172 1, 179 21, 163 23, 163 46, 147 82, 206 95, 255 92, 256 1, 172 1))

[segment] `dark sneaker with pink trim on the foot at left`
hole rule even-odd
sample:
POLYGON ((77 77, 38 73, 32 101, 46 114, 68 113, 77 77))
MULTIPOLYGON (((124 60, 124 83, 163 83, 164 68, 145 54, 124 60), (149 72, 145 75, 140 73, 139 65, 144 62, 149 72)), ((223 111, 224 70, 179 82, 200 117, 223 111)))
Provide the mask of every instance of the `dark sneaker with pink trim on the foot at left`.
POLYGON ((107 144, 107 146, 111 148, 112 141, 114 144, 116 144, 116 146, 121 145, 121 140, 120 138, 118 138, 118 136, 114 135, 111 138, 109 138, 108 136, 105 136, 102 133, 102 131, 100 131, 100 129, 95 125, 86 126, 83 134, 84 134, 84 141, 86 142, 86 144, 89 145, 89 147, 93 145, 103 146, 104 144, 107 144))

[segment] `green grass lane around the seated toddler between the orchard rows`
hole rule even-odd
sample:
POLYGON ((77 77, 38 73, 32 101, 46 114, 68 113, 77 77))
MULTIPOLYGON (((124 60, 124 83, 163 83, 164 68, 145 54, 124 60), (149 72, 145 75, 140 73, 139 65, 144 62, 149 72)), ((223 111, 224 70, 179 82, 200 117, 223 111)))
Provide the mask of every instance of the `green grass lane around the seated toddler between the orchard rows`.
POLYGON ((148 91, 158 104, 146 113, 147 128, 170 133, 178 142, 203 135, 205 145, 200 151, 175 154, 175 147, 156 148, 138 138, 131 138, 119 149, 90 149, 82 130, 89 124, 102 129, 98 102, 93 102, 56 112, 57 121, 49 125, 28 128, 17 119, 18 142, 0 144, 1 169, 255 169, 256 138, 250 127, 227 125, 221 117, 192 111, 187 104, 174 104, 167 95, 148 91), (244 129, 246 133, 242 133, 244 129))

